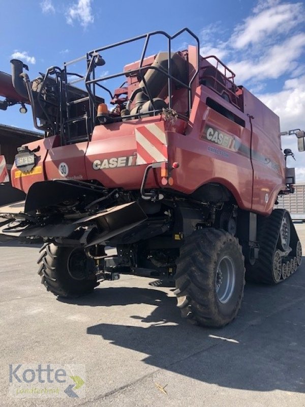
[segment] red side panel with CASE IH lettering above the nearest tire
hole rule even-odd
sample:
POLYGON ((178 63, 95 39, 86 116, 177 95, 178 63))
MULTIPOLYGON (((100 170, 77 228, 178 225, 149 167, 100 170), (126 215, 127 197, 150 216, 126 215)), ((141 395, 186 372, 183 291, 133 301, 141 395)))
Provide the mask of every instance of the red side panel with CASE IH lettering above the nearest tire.
MULTIPOLYGON (((218 143, 206 139, 206 127, 219 129, 242 141, 250 153, 250 128, 242 128, 205 104, 212 91, 201 86, 197 88, 193 103, 190 125, 186 136, 169 137, 169 157, 180 163, 172 172, 173 188, 191 193, 208 182, 226 186, 242 209, 251 209, 252 166, 250 154, 245 155, 224 149, 218 143), (223 154, 223 155, 221 155, 223 154)), ((215 98, 215 94, 212 94, 215 98)), ((220 98, 221 99, 221 98, 220 98)), ((226 101, 221 99, 224 104, 226 101)), ((232 108, 232 106, 230 106, 232 108)), ((237 109, 236 109, 237 110, 237 109)), ((239 115, 243 115, 238 111, 239 115)))

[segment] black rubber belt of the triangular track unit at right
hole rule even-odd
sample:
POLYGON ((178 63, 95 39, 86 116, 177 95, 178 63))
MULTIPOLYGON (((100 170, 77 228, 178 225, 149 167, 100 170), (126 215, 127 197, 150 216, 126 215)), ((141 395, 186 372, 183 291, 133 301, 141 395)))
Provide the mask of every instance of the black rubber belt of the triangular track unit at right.
MULTIPOLYGON (((278 249, 280 228, 285 212, 290 220, 290 247, 292 251, 288 256, 282 257, 282 264, 285 259, 289 260, 289 256, 296 255, 296 245, 299 239, 289 212, 285 209, 275 209, 267 218, 258 216, 257 240, 259 243, 259 257, 254 266, 247 265, 247 280, 249 278, 250 281, 264 284, 277 283, 272 277, 273 254, 278 249)), ((280 281, 283 281, 283 279, 280 281)))

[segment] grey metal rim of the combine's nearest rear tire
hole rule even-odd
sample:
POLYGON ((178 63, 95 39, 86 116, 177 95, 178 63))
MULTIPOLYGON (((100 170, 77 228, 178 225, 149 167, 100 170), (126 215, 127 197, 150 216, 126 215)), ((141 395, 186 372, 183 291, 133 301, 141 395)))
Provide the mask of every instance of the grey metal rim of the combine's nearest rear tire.
POLYGON ((223 257, 218 263, 215 278, 217 298, 223 304, 232 297, 235 277, 236 271, 233 260, 229 256, 223 257))

